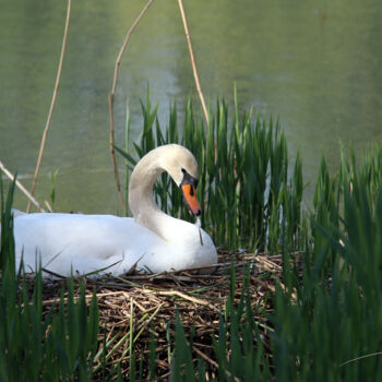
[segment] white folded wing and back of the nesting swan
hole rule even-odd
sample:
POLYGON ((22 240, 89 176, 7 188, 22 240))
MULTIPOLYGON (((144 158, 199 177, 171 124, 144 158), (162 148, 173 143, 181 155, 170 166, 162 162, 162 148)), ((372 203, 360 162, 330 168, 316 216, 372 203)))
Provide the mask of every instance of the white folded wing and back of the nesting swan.
POLYGON ((16 259, 25 267, 43 267, 61 275, 128 272, 147 248, 160 240, 132 218, 110 215, 31 214, 15 219, 16 259))

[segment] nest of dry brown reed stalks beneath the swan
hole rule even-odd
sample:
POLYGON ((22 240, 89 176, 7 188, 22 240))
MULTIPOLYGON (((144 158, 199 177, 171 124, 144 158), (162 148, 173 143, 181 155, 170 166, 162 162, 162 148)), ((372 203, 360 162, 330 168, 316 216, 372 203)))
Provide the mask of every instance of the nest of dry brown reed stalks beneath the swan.
MULTIPOLYGON (((201 274, 200 271, 206 271, 205 268, 194 268, 153 275, 85 278, 87 302, 91 302, 94 289, 96 290, 99 307, 98 355, 105 343, 108 344, 104 355, 106 354, 109 371, 119 363, 122 378, 129 379, 132 355, 129 344, 133 339, 135 375, 143 379, 168 379, 171 374, 169 358, 174 351, 176 318, 179 314, 186 335, 192 333, 193 360, 196 362, 198 359, 203 359, 206 380, 215 380, 218 375, 218 363, 214 358, 213 337, 218 339, 219 319, 232 288, 232 267, 234 303, 240 299, 246 270, 250 270, 247 290, 251 296, 253 311, 259 311, 261 307, 261 311, 265 312, 255 317, 255 320, 262 334, 264 350, 270 351, 271 324, 266 322, 266 312, 273 308, 267 296, 275 291, 275 278, 283 287, 282 256, 270 256, 266 253, 231 253, 223 250, 218 251, 218 256, 219 262, 213 270, 210 268, 213 271, 210 274, 201 274), (152 362, 155 362, 155 375, 150 375, 148 359, 153 346, 155 359, 152 362)), ((57 301, 64 280, 49 283, 51 285, 44 288, 44 306, 47 310, 57 301)), ((100 366, 98 357, 94 380, 103 379, 100 366)), ((105 370, 103 372, 105 373, 105 370)))

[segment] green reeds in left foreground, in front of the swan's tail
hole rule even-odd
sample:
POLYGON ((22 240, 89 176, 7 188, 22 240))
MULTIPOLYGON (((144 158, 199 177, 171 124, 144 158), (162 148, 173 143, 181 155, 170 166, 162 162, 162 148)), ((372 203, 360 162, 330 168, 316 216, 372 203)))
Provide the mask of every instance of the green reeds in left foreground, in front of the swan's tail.
POLYGON ((95 295, 86 307, 83 283, 74 298, 68 279, 57 302, 43 314, 43 276, 23 279, 15 270, 13 217, 14 183, 8 196, 1 189, 0 252, 0 380, 92 380, 92 359, 98 344, 99 313, 95 295))

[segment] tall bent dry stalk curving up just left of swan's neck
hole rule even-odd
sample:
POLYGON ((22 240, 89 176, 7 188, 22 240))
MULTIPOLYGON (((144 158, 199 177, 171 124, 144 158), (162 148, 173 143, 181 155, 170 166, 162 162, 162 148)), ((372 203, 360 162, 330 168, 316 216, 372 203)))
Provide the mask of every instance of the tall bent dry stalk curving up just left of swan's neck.
POLYGON ((121 183, 119 181, 118 167, 117 167, 117 160, 116 160, 116 153, 115 153, 115 148, 114 148, 114 144, 115 144, 114 98, 115 98, 115 95, 116 95, 119 65, 121 63, 122 55, 123 55, 123 52, 126 50, 126 47, 128 46, 128 43, 129 43, 129 39, 130 39, 130 35, 133 33, 133 31, 135 29, 135 27, 139 24, 140 20, 146 13, 148 7, 153 2, 154 2, 154 0, 148 0, 147 1, 146 5, 143 8, 141 13, 139 14, 136 20, 134 21, 133 25, 128 31, 128 34, 126 35, 123 45, 122 45, 122 47, 121 47, 121 49, 120 49, 120 51, 118 53, 118 57, 117 57, 116 67, 115 67, 115 74, 114 74, 114 79, 112 79, 112 87, 111 87, 111 91, 109 93, 109 115, 110 115, 109 143, 110 143, 110 154, 111 154, 112 167, 114 167, 114 171, 115 171, 115 179, 116 179, 117 191, 118 191, 119 199, 121 200, 121 203, 122 203, 122 206, 123 206, 124 211, 126 211, 126 203, 124 203, 124 199, 123 199, 123 195, 122 195, 122 192, 121 192, 121 183))

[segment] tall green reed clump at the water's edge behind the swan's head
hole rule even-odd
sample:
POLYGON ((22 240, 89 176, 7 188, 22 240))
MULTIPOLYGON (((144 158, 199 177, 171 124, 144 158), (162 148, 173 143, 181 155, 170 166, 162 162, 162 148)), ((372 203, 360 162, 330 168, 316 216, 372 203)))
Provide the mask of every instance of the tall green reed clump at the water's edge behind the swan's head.
MULTIPOLYGON (((152 107, 148 92, 146 104, 141 106, 140 141, 126 151, 116 147, 129 163, 128 172, 148 151, 168 143, 182 144, 198 160, 202 224, 218 246, 278 250, 282 230, 295 249, 303 244, 301 160, 297 155, 290 170, 278 121, 253 119, 251 111, 239 116, 237 109, 230 119, 225 102, 217 100, 206 128, 201 119, 195 119, 189 100, 182 127, 178 126, 174 105, 163 129, 157 118, 158 106, 152 107)), ((155 199, 163 211, 189 218, 181 193, 167 174, 155 186, 155 199)))

